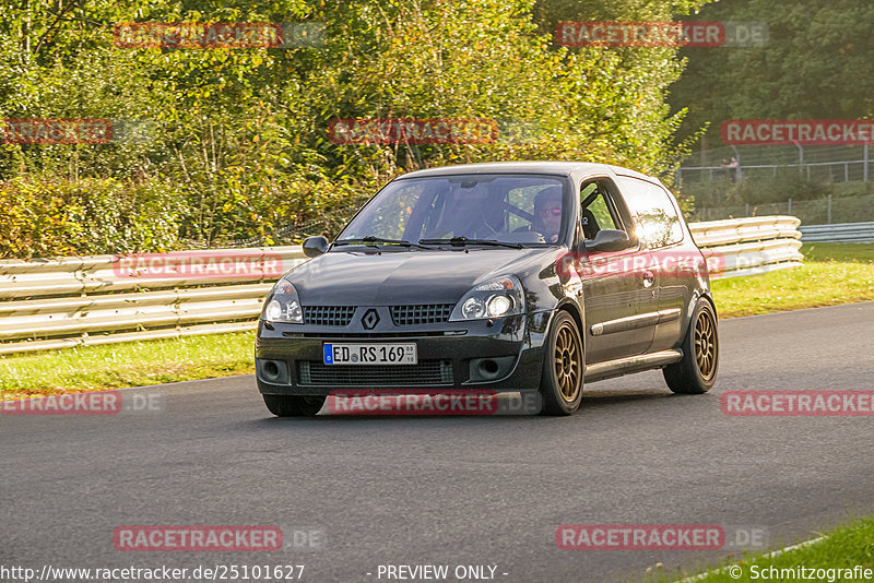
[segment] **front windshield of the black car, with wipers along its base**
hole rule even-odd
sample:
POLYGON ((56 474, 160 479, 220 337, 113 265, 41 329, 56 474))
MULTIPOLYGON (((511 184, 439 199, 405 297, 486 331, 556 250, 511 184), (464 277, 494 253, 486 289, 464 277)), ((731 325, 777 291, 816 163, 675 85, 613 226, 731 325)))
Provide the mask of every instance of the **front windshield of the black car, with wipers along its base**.
POLYGON ((338 242, 551 245, 563 236, 563 192, 562 180, 547 176, 395 180, 352 219, 338 242))

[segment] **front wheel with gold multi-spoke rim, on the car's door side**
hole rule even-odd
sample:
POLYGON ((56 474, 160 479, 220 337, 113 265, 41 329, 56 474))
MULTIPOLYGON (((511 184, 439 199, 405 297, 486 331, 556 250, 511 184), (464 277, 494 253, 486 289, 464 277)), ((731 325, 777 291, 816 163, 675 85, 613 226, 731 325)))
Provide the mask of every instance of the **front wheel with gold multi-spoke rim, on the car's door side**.
POLYGON ((550 326, 543 355, 540 392, 543 415, 571 415, 582 402, 586 355, 577 322, 559 310, 550 326))

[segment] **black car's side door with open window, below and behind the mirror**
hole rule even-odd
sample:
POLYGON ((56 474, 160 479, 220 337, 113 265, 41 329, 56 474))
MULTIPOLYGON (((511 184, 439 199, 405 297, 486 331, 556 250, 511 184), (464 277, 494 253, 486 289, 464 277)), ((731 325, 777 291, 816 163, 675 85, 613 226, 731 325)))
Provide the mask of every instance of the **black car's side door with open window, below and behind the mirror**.
POLYGON ((578 272, 586 311, 587 364, 604 362, 647 352, 658 321, 656 276, 649 251, 637 243, 630 215, 616 183, 609 178, 580 185, 580 248, 578 272), (590 252, 599 230, 624 230, 627 249, 590 252))

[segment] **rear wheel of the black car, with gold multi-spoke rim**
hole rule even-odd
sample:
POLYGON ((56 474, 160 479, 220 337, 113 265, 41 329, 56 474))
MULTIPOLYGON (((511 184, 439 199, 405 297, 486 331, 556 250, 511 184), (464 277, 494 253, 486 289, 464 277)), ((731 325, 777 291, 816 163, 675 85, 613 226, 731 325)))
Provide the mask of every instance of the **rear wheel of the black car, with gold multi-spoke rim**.
POLYGON ((717 313, 701 298, 695 305, 683 340, 683 360, 662 369, 668 388, 675 393, 699 395, 713 388, 719 370, 717 313))

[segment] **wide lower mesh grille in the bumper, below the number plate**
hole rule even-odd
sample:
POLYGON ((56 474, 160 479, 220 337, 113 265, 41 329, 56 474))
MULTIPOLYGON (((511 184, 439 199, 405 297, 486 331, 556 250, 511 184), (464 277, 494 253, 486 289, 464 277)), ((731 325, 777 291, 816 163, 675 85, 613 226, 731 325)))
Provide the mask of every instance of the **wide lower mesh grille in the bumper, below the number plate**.
POLYGON ((298 384, 332 386, 424 386, 452 384, 451 360, 421 360, 417 365, 324 365, 297 362, 298 384))

